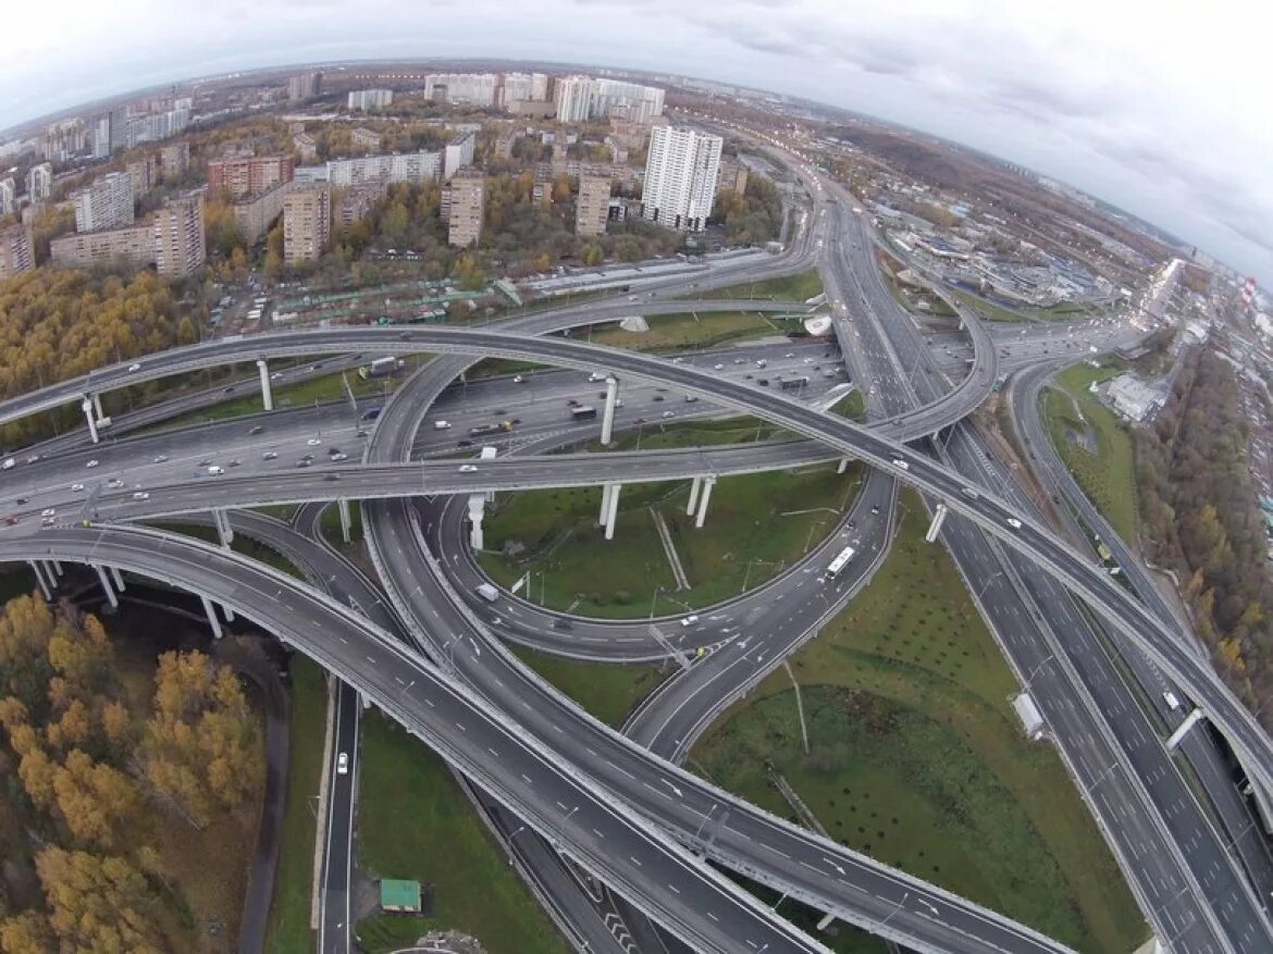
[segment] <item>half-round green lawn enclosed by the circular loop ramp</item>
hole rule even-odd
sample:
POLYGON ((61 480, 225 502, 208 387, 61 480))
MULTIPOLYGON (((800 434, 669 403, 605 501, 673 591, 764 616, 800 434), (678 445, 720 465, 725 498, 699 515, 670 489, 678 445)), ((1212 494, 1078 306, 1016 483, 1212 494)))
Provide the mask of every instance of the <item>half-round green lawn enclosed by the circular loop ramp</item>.
POLYGON ((836 474, 835 464, 723 477, 701 529, 685 513, 687 482, 630 485, 611 541, 597 528, 600 487, 498 494, 479 560, 505 586, 530 571, 528 598, 554 609, 624 619, 684 613, 799 560, 836 527, 859 483, 859 467, 836 474), (676 590, 651 506, 667 522, 687 590, 676 590), (512 542, 526 547, 516 558, 500 552, 512 542))

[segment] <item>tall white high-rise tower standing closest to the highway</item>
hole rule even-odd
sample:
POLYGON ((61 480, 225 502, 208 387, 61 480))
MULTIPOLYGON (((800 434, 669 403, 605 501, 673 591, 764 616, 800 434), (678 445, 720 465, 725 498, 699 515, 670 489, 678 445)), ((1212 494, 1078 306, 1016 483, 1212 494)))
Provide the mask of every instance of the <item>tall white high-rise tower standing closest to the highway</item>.
POLYGON ((642 214, 670 229, 701 232, 715 201, 723 144, 690 128, 652 128, 642 214))

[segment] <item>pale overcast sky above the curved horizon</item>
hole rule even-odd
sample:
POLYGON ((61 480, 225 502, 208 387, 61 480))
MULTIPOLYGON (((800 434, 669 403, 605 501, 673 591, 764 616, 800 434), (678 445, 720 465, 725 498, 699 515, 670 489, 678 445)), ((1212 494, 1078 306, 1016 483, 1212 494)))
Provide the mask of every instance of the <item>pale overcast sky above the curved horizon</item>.
POLYGON ((6 10, 0 128, 236 69, 493 56, 668 70, 967 142, 1273 286, 1273 14, 1250 0, 62 0, 6 10))

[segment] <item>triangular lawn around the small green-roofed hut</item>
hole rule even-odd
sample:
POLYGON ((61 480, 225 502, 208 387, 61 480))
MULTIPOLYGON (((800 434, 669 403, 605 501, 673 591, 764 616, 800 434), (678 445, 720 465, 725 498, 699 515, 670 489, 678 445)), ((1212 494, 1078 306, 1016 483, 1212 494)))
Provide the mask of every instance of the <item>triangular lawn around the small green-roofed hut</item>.
POLYGON ((372 878, 433 887, 434 916, 373 917, 364 949, 393 950, 429 929, 454 929, 490 954, 559 954, 565 943, 474 815, 442 759, 378 712, 363 717, 358 854, 372 878))

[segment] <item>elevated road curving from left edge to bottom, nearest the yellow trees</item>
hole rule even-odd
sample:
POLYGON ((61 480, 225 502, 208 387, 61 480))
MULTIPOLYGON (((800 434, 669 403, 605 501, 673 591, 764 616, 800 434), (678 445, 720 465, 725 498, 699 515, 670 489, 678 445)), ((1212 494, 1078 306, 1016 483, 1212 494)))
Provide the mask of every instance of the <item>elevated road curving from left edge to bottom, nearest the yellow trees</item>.
POLYGON ((197 541, 139 529, 47 532, 0 544, 3 560, 108 563, 202 593, 331 670, 629 901, 709 951, 825 950, 656 829, 616 810, 566 763, 388 633, 285 574, 197 541), (377 661, 379 660, 379 661, 377 661))

